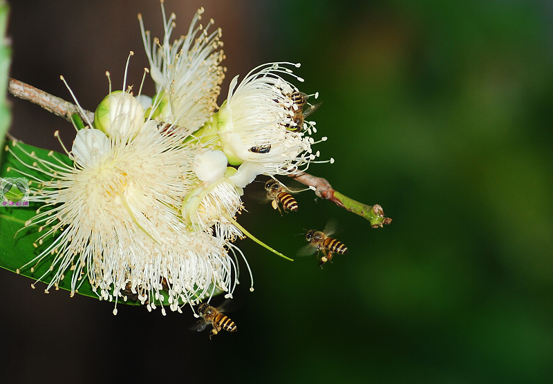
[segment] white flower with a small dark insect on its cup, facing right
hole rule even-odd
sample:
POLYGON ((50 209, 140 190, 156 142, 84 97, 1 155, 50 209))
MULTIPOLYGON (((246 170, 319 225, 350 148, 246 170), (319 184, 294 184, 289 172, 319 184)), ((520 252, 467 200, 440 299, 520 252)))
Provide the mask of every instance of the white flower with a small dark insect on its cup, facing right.
POLYGON ((252 180, 255 172, 290 174, 315 159, 314 141, 297 119, 299 90, 281 77, 294 76, 285 64, 290 63, 254 68, 240 84, 234 77, 218 113, 194 134, 203 142, 217 142, 230 164, 258 164, 245 167, 244 180, 252 180))

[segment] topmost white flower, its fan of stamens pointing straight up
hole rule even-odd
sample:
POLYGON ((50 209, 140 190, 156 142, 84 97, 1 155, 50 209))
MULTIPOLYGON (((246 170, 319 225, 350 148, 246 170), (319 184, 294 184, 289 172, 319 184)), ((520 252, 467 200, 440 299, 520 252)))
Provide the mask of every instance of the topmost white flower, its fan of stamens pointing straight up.
POLYGON ((154 116, 193 132, 203 126, 217 108, 220 84, 225 77, 225 68, 219 65, 225 57, 221 50, 221 29, 208 32, 213 20, 205 28, 201 24, 196 26, 204 12, 200 8, 188 34, 171 44, 176 16, 171 14, 167 19, 163 3, 161 10, 165 29, 161 42, 157 38, 152 41, 150 32, 144 30, 142 16, 138 15, 151 78, 156 82, 154 116))

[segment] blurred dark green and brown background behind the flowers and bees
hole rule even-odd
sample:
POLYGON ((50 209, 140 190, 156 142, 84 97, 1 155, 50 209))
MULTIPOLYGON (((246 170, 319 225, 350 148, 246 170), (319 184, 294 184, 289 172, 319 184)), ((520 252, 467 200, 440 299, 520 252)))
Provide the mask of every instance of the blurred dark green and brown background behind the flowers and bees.
MULTIPOLYGON (((136 15, 158 1, 11 1, 12 77, 93 111, 104 75, 138 85, 136 15)), ((550 383, 553 377, 553 6, 550 1, 165 1, 174 37, 199 6, 223 28, 227 79, 299 61, 321 157, 310 172, 381 204, 391 225, 310 192, 283 217, 245 198, 239 220, 294 256, 305 229, 337 220, 348 248, 321 270, 241 240, 236 334, 195 319, 44 295, 0 271, 0 366, 8 382, 550 383), (243 271, 245 267, 242 265, 243 271)), ((146 93, 152 93, 148 82, 146 93)), ((226 97, 226 96, 225 96, 226 97)), ((223 99, 225 98, 223 97, 223 99)), ((12 135, 59 150, 73 127, 12 100, 12 135)), ((261 188, 262 184, 259 184, 261 188)), ((252 191, 252 194, 254 191, 252 191)))

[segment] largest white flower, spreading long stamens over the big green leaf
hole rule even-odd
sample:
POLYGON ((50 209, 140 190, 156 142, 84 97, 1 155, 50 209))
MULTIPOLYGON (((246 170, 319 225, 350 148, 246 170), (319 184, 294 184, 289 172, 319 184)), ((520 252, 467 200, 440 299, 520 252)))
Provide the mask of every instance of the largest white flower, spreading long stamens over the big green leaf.
MULTIPOLYGON (((120 131, 124 123, 112 124, 120 131)), ((44 173, 35 177, 41 188, 32 198, 44 206, 26 226, 38 224, 44 233, 37 243, 46 244, 28 265, 52 260, 46 291, 70 273, 72 294, 86 274, 101 299, 117 300, 131 289, 142 303, 149 299, 149 308, 156 307, 153 298, 180 311, 181 303, 215 291, 232 295, 236 262, 228 251, 236 248, 229 239, 241 233, 221 218, 215 233, 182 219, 182 201, 201 184, 192 166, 196 146, 184 140, 160 133, 149 120, 130 141, 93 128, 79 131, 70 153, 74 166, 27 154, 34 163, 28 166, 44 173)), ((231 202, 219 188, 201 203, 212 222, 215 209, 232 217, 241 207, 234 186, 231 202)))

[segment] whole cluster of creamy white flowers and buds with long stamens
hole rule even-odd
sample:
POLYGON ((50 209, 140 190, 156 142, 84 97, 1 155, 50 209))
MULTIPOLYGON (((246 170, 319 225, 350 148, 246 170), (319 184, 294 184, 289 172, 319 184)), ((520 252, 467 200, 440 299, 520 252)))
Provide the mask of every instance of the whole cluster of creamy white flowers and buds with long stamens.
POLYGON ((291 70, 299 65, 236 76, 217 106, 225 56, 221 30, 209 31, 212 20, 200 25, 203 12, 173 42, 175 15, 167 18, 163 4, 162 40, 139 15, 156 94, 133 95, 125 84, 109 93, 66 151, 72 164, 19 158, 42 175, 21 171, 39 183, 31 201, 44 204, 26 226, 43 232, 37 247, 46 245, 28 265, 51 260, 46 291, 71 273, 72 294, 87 278, 101 299, 133 296, 164 313, 164 305, 180 311, 213 294, 232 297, 243 188, 317 157, 315 123, 304 118, 309 95, 286 79, 303 81, 291 70))

